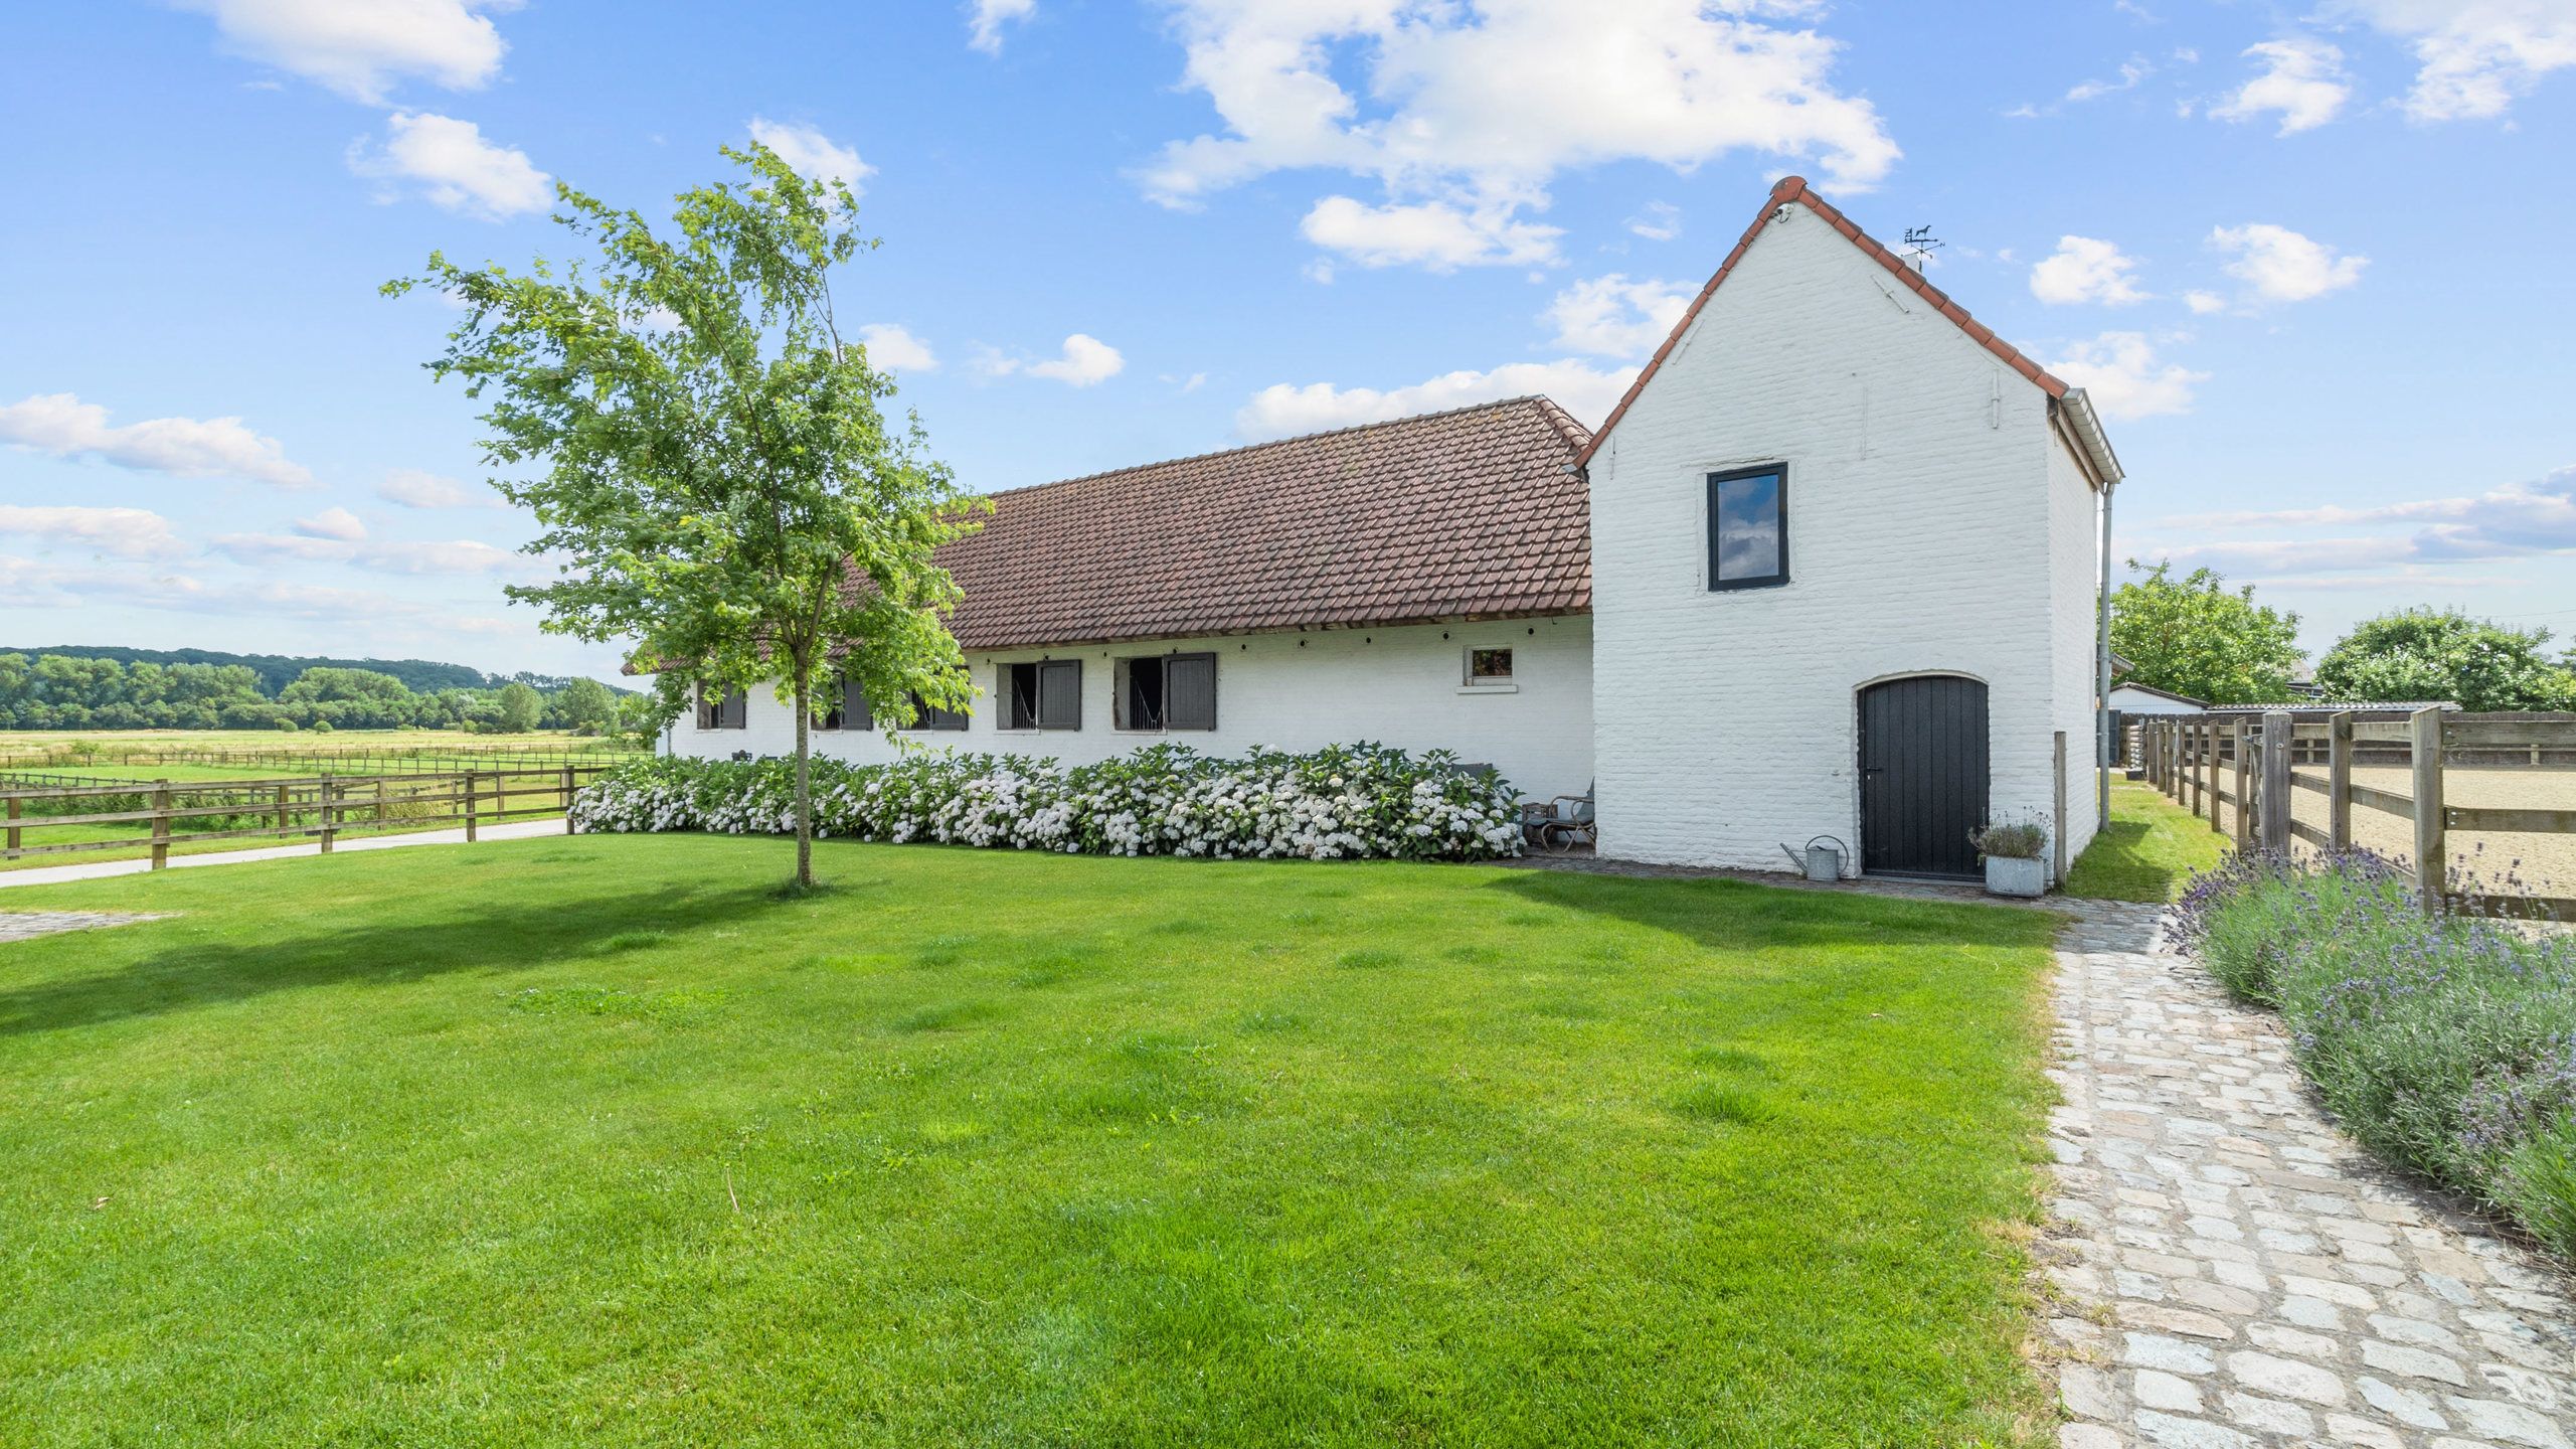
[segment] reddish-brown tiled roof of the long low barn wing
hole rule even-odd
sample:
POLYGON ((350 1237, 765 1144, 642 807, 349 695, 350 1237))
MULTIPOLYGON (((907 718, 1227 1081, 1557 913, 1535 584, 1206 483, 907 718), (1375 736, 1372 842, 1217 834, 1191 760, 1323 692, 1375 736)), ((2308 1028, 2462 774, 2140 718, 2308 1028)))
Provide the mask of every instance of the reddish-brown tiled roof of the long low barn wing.
POLYGON ((1515 397, 994 495, 966 650, 1592 608, 1589 433, 1515 397))

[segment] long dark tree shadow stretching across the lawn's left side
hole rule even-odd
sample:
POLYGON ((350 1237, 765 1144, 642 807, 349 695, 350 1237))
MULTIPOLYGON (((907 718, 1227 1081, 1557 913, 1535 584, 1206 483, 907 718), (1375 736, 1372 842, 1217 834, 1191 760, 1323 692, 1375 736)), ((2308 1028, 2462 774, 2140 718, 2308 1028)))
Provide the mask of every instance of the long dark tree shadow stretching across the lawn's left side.
POLYGON ((404 985, 600 959, 647 933, 688 936, 775 910, 768 887, 634 890, 546 902, 443 900, 415 918, 304 918, 268 941, 175 941, 121 967, 0 990, 0 1036, 165 1016, 317 985, 404 985))

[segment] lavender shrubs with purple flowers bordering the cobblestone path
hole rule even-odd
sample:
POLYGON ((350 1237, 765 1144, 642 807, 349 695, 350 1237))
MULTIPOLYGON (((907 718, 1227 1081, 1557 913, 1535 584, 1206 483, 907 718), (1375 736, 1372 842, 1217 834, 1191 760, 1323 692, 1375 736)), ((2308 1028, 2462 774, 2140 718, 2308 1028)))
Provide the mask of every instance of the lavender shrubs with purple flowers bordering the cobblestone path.
POLYGON ((2365 1147, 2576 1256, 2576 936, 2424 915, 2367 851, 2236 856, 2192 882, 2172 936, 2282 1013, 2365 1147))

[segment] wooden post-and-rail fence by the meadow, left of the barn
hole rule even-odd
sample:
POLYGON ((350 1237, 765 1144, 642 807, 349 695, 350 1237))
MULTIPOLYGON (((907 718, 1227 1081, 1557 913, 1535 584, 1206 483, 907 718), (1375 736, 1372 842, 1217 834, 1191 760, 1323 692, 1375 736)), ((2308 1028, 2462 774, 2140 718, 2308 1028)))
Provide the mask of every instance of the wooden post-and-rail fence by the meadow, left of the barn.
MULTIPOLYGON (((170 864, 170 846, 201 841, 319 841, 340 835, 435 830, 559 815, 582 784, 608 766, 474 768, 451 773, 299 776, 224 781, 113 781, 82 786, 0 786, 0 861, 75 856, 85 851, 152 851, 152 869, 170 864), (131 825, 106 841, 44 843, 46 830, 131 825), (39 843, 26 843, 39 835, 39 843)), ((564 822, 572 830, 572 822, 564 822)))

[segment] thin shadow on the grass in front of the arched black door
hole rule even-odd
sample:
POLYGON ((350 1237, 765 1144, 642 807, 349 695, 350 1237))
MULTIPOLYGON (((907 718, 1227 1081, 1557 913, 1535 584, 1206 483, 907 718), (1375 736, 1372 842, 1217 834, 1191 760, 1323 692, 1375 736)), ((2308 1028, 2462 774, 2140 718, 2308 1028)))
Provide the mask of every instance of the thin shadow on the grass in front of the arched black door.
POLYGON ((1739 879, 1507 871, 1489 890, 1615 915, 1713 951, 1795 946, 2043 946, 2058 915, 2002 905, 1785 890, 1739 879))

